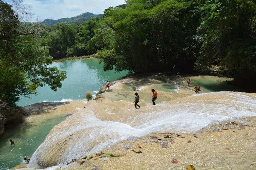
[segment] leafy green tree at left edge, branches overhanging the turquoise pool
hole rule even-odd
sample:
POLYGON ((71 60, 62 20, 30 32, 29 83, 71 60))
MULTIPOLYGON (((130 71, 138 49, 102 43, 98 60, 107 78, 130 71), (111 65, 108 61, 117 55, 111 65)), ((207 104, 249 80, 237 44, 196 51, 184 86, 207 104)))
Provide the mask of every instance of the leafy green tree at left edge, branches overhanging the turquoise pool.
POLYGON ((48 67, 49 47, 37 43, 41 25, 20 23, 11 6, 1 0, 0 14, 0 100, 15 105, 21 95, 36 94, 38 86, 60 88, 66 72, 48 67))

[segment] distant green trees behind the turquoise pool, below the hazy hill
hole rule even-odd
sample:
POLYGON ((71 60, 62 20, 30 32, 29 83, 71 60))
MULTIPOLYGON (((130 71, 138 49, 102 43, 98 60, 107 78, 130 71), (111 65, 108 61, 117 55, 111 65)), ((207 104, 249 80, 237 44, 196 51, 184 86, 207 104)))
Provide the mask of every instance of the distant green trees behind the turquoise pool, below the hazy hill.
POLYGON ((83 56, 96 53, 96 50, 88 50, 88 41, 94 36, 94 29, 99 18, 93 18, 83 24, 58 23, 45 27, 42 34, 41 45, 49 46, 49 53, 54 60, 83 56))

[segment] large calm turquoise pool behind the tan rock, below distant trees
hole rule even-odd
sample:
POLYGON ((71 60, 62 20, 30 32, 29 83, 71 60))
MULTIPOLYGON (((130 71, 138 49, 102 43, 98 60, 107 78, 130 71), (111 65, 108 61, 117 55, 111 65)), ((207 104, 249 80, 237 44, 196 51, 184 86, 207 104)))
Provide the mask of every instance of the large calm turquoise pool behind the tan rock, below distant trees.
POLYGON ((67 78, 62 82, 62 87, 56 92, 49 86, 38 87, 37 95, 31 95, 31 99, 22 97, 18 105, 26 106, 42 101, 82 100, 86 91, 96 94, 107 81, 114 81, 128 73, 128 71, 119 73, 115 73, 114 70, 103 71, 103 64, 99 64, 94 58, 58 62, 53 63, 52 66, 67 71, 67 78))

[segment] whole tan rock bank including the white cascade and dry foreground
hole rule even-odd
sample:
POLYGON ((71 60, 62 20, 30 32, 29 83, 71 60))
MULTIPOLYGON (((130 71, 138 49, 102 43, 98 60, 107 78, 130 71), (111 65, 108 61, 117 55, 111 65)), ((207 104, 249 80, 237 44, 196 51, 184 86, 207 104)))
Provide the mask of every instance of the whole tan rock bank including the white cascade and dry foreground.
MULTIPOLYGON (((230 164, 230 160, 238 162, 241 159, 241 155, 236 156, 239 149, 234 148, 241 145, 246 150, 249 143, 249 149, 255 147, 255 117, 234 117, 255 115, 256 95, 238 92, 195 95, 193 87, 187 87, 187 78, 161 74, 126 77, 113 82, 113 91, 100 94, 98 100, 90 100, 89 103, 72 101, 57 106, 52 113, 57 111, 61 114, 73 108, 73 114, 51 130, 31 163, 37 162, 45 167, 69 163, 61 169, 185 169, 186 164, 193 164, 196 169, 228 169, 225 162, 230 164), (137 110, 132 103, 132 85, 141 96, 141 108, 137 110), (154 107, 151 106, 151 88, 159 94, 154 107), (222 122, 223 127, 217 123, 205 128, 223 120, 228 120, 226 124, 222 122), (230 122, 234 123, 229 125, 230 122), (200 130, 202 128, 205 130, 200 130), (164 138, 167 132, 170 138, 164 138), (240 132, 247 133, 249 137, 240 132), (247 141, 244 146, 241 137, 247 141), (189 140, 191 143, 187 143, 189 140), (230 150, 222 150, 222 147, 230 150), (224 158, 227 150, 233 151, 230 152, 232 156, 224 158), (96 156, 96 152, 101 151, 120 156, 96 156), (87 158, 81 159, 84 156, 87 158), (172 158, 178 163, 173 164, 172 158)), ((196 82, 194 77, 191 78, 196 82)), ((225 81, 219 77, 201 78, 225 81)), ((245 159, 252 162, 250 157, 255 150, 248 153, 245 159)), ((248 167, 247 164, 242 165, 248 167)))

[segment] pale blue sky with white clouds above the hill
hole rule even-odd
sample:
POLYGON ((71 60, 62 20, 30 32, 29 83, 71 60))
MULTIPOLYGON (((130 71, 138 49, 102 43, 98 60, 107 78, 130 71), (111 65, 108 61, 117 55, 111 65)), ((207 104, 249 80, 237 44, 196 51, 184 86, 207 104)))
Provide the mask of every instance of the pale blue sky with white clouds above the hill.
MULTIPOLYGON (((9 2, 10 0, 4 0, 9 2)), ((106 8, 124 4, 124 0, 23 0, 31 7, 31 21, 74 17, 85 12, 102 14, 106 8)))

